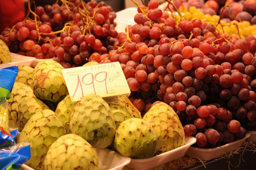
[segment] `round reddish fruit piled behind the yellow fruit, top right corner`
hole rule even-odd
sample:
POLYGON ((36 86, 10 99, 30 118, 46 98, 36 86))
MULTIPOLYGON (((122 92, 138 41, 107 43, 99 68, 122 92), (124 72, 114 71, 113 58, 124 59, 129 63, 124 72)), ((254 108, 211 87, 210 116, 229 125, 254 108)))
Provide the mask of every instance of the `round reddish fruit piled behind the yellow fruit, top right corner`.
MULTIPOLYGON (((255 1, 254 0, 181 0, 173 1, 174 5, 182 12, 186 13, 189 8, 195 7, 198 12, 194 14, 184 14, 187 16, 217 16, 229 23, 232 20, 247 21, 251 24, 256 23, 255 1)), ((172 5, 168 6, 170 10, 176 10, 172 5)))

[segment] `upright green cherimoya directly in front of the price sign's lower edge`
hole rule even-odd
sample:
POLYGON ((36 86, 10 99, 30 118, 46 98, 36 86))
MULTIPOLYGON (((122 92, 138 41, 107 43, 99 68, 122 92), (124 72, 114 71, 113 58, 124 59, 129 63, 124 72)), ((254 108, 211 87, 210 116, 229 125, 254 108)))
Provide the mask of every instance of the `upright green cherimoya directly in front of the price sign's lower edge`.
POLYGON ((99 95, 83 96, 70 117, 70 133, 83 137, 95 148, 106 148, 114 140, 116 125, 110 106, 99 95))

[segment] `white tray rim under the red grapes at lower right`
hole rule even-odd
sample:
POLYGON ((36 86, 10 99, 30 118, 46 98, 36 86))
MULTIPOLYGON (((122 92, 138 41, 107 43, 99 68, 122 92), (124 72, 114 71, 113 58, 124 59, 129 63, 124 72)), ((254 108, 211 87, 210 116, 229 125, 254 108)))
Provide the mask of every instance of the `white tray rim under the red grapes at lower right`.
POLYGON ((250 133, 247 133, 245 137, 240 140, 216 148, 198 148, 191 146, 190 148, 188 148, 185 155, 190 157, 195 156, 203 161, 211 160, 230 151, 237 150, 245 141, 245 139, 250 137, 250 135, 250 133))

